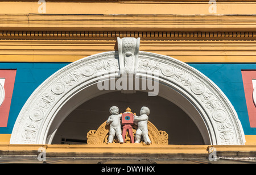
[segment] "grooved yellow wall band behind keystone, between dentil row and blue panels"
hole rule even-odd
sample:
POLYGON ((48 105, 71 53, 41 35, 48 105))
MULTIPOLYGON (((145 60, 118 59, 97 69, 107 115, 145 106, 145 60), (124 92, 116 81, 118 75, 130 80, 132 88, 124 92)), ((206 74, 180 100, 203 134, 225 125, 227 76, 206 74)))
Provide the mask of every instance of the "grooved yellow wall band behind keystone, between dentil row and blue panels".
MULTIPOLYGON (((115 40, 0 40, 0 61, 73 62, 114 51, 115 40)), ((140 51, 159 53, 183 62, 255 62, 255 41, 149 40, 140 51)))

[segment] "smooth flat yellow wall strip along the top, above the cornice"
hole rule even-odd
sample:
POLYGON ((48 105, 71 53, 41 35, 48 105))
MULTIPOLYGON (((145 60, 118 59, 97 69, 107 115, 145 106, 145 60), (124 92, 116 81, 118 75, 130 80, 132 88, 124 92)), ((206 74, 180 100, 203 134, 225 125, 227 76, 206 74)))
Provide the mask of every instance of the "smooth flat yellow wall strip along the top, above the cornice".
MULTIPOLYGON (((211 14, 209 1, 51 1, 46 5, 47 14, 211 14)), ((38 14, 39 6, 36 1, 3 1, 0 14, 38 14)), ((255 8, 252 1, 217 2, 217 14, 254 14, 255 8)))

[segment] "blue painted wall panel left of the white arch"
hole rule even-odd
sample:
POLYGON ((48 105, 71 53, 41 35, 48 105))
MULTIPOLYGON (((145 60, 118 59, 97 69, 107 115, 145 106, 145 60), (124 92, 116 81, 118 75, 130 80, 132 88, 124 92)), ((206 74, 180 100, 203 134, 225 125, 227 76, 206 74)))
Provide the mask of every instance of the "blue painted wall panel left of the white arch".
POLYGON ((0 62, 0 69, 16 69, 16 78, 7 127, 0 127, 0 134, 11 134, 19 111, 33 91, 67 62, 0 62))

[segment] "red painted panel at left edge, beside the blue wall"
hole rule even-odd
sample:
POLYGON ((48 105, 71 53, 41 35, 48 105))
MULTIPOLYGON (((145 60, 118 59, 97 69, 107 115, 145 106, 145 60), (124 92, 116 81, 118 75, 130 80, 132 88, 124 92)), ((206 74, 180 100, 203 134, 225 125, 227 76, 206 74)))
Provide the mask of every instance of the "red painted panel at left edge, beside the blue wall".
POLYGON ((16 70, 5 70, 0 69, 0 78, 5 78, 5 84, 3 85, 5 89, 5 100, 0 106, 0 127, 7 127, 11 97, 13 97, 13 88, 15 82, 16 70))

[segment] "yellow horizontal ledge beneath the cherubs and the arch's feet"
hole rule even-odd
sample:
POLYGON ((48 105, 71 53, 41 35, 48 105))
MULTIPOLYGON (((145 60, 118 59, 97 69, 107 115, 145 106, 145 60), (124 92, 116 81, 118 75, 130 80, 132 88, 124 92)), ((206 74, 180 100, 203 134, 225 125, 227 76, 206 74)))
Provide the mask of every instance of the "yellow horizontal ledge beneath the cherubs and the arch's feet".
POLYGON ((130 158, 208 158, 214 147, 218 157, 255 157, 255 145, 0 145, 0 157, 34 157, 39 148, 47 157, 130 157, 130 158))

